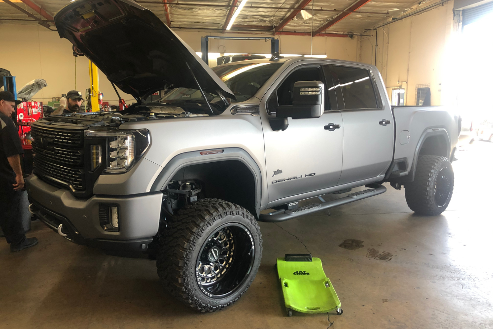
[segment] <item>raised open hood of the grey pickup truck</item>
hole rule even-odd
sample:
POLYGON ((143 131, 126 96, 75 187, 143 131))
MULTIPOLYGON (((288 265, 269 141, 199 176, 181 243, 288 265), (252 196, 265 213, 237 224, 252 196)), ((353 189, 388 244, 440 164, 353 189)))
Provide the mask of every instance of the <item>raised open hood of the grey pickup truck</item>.
POLYGON ((55 14, 55 25, 76 53, 136 98, 166 87, 198 89, 195 79, 206 92, 235 98, 180 37, 132 0, 73 1, 55 14))

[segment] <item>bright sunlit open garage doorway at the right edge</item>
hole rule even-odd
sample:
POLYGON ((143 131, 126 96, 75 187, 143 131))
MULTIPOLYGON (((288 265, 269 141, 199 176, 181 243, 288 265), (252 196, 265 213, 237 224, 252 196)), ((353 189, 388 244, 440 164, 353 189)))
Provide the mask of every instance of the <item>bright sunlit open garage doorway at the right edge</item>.
POLYGON ((462 119, 458 149, 493 139, 493 1, 455 11, 455 33, 442 63, 442 105, 462 119))

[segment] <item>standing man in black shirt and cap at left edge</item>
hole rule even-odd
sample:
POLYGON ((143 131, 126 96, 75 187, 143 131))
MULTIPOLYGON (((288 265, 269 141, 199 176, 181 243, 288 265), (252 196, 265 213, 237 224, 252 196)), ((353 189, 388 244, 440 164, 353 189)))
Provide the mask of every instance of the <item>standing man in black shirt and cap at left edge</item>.
POLYGON ((20 154, 24 153, 19 134, 10 118, 15 107, 14 95, 0 91, 0 227, 16 252, 37 244, 36 238, 26 238, 20 218, 21 189, 24 187, 20 154))

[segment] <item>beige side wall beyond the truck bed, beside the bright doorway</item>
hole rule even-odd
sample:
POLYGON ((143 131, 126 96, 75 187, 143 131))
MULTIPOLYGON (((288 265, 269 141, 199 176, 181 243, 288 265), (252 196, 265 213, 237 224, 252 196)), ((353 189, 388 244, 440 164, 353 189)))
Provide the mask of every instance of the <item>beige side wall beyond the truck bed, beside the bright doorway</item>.
POLYGON ((415 105, 416 86, 429 84, 431 105, 447 103, 444 88, 447 89, 448 73, 454 70, 447 48, 453 33, 453 4, 451 1, 377 31, 368 31, 366 34, 373 37, 360 38, 358 61, 376 65, 389 99, 392 89, 400 87, 406 90, 405 105, 415 105))

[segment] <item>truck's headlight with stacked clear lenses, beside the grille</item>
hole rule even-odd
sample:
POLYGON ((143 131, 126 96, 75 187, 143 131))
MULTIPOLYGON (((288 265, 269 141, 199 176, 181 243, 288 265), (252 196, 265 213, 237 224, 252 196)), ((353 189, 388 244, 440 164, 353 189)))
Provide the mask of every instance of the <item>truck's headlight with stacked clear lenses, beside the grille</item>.
MULTIPOLYGON (((106 144, 106 169, 103 173, 125 173, 141 158, 150 144, 147 129, 137 130, 85 130, 86 138, 104 138, 106 144)), ((91 146, 91 170, 95 170, 101 162, 99 145, 91 146)))

